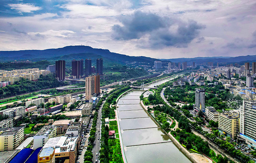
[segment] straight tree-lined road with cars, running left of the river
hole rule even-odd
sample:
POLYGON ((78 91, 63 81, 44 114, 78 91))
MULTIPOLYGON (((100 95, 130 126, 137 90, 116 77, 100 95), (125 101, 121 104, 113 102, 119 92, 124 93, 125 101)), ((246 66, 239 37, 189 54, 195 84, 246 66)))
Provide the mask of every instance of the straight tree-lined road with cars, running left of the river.
MULTIPOLYGON (((98 110, 98 119, 97 119, 97 125, 96 125, 96 138, 95 138, 95 145, 93 147, 93 162, 95 162, 95 160, 99 160, 98 156, 99 156, 99 150, 100 150, 100 136, 101 136, 101 109, 103 104, 105 103, 105 101, 102 102, 101 107, 98 110), (98 132, 99 130, 99 132, 98 132), (98 140, 99 138, 99 140, 98 140), (98 153, 98 155, 96 155, 96 153, 98 153)), ((99 161, 98 161, 99 162, 99 161)))

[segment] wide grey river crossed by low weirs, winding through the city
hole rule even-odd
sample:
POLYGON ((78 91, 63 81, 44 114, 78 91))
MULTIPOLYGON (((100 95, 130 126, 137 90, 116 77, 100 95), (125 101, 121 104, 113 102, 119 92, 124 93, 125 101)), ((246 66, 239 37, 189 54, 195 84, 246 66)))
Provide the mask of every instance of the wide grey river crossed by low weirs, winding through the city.
MULTIPOLYGON (((182 75, 182 74, 179 74, 182 75)), ((147 86, 170 81, 175 75, 147 86)), ((131 90, 117 102, 120 143, 127 163, 191 163, 140 105, 145 90, 131 90)))

